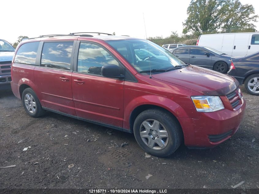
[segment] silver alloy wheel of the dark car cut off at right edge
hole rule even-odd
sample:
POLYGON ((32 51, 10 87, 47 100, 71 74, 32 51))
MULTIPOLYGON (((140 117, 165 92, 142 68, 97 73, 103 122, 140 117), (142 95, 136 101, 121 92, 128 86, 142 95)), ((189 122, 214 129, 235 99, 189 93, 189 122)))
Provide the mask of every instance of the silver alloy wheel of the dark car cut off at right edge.
POLYGON ((259 95, 259 74, 253 74, 246 78, 245 89, 252 95, 259 95))

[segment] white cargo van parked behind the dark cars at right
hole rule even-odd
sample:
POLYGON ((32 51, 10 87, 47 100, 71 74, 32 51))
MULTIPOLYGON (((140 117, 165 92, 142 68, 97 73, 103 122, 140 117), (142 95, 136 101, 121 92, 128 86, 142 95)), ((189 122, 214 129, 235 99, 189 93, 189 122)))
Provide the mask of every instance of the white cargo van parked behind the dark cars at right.
POLYGON ((232 57, 242 57, 259 51, 259 33, 204 34, 199 36, 196 45, 211 47, 232 57))

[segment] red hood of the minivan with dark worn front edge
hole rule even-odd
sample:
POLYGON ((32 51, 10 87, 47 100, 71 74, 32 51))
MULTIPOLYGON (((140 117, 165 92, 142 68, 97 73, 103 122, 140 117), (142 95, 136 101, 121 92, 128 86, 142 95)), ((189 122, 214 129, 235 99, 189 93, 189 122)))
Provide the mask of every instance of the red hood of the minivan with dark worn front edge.
POLYGON ((153 74, 152 77, 184 86, 204 95, 226 95, 239 86, 238 81, 228 75, 192 65, 165 73, 153 74))

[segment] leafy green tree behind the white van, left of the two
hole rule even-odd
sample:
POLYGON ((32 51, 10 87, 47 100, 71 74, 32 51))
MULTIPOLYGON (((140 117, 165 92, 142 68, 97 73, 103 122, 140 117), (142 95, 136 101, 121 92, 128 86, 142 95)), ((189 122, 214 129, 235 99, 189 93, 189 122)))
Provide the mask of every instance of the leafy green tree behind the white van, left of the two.
POLYGON ((218 29, 224 3, 223 0, 191 0, 187 9, 188 17, 183 23, 183 33, 218 29))

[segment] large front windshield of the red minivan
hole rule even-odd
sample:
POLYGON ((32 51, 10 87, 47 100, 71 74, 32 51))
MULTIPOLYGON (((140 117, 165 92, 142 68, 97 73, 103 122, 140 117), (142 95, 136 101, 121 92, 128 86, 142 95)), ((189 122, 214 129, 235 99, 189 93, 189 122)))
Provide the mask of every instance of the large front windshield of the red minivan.
POLYGON ((166 49, 149 40, 108 40, 139 73, 162 73, 187 66, 166 49))

